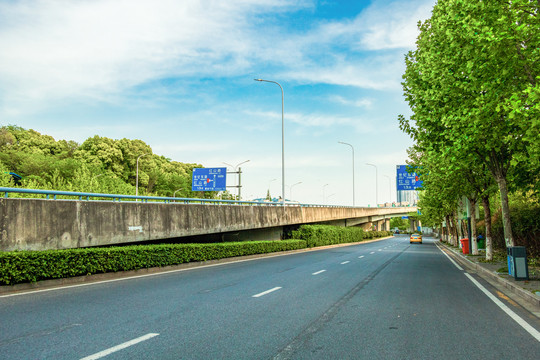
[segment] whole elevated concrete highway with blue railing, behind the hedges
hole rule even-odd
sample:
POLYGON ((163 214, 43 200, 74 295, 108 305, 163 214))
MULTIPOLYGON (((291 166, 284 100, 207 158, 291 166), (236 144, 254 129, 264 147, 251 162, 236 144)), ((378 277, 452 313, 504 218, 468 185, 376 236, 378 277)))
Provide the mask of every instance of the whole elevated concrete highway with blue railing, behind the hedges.
POLYGON ((302 224, 389 230, 414 207, 337 207, 0 188, 0 251, 67 249, 191 236, 276 240, 302 224), (34 198, 17 198, 16 196, 34 198), (19 194, 19 195, 17 195, 19 194), (35 197, 46 198, 35 198, 35 197), (62 199, 61 199, 62 198, 62 199))

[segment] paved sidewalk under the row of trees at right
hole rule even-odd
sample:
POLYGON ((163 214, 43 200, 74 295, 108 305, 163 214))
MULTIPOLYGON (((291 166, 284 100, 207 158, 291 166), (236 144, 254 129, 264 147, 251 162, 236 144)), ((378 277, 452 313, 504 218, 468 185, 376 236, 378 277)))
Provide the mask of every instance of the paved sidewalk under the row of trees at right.
POLYGON ((458 261, 460 265, 476 272, 492 285, 504 288, 508 297, 516 302, 527 302, 529 306, 533 307, 535 315, 540 317, 540 277, 538 274, 531 275, 531 269, 529 269, 530 280, 515 280, 514 277, 508 275, 508 271, 498 272, 507 267, 506 260, 490 263, 480 262, 479 260, 485 259, 485 252, 481 251, 480 255, 476 256, 464 255, 459 248, 440 241, 437 244, 442 249, 447 250, 448 255, 458 261))

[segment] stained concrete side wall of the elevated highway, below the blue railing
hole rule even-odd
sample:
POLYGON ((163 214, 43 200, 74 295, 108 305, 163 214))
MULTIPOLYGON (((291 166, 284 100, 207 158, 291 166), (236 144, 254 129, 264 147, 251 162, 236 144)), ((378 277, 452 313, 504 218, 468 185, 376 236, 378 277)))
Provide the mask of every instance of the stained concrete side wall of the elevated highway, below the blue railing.
POLYGON ((317 208, 108 201, 0 199, 0 251, 67 249, 343 222, 347 226, 413 208, 317 208))

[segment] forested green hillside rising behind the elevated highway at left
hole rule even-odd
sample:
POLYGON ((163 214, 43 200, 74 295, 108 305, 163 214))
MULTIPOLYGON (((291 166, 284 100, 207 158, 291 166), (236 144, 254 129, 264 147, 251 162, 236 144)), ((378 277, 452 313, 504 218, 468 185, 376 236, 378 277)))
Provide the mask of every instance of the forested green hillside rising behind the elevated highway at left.
POLYGON ((0 127, 0 186, 15 185, 13 172, 24 188, 135 195, 141 155, 139 195, 202 196, 191 191, 193 168, 202 165, 154 154, 142 140, 96 135, 78 144, 17 126, 0 127))

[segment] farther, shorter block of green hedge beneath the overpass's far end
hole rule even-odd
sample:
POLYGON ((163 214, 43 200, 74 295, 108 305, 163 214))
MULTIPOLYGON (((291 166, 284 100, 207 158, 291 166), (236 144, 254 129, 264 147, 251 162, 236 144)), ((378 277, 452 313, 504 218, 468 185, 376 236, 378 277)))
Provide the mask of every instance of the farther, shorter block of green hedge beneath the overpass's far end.
POLYGON ((391 231, 364 231, 359 227, 329 225, 302 225, 292 232, 293 239, 305 240, 308 247, 359 242, 384 236, 392 236, 391 231))

